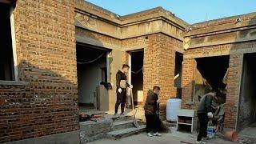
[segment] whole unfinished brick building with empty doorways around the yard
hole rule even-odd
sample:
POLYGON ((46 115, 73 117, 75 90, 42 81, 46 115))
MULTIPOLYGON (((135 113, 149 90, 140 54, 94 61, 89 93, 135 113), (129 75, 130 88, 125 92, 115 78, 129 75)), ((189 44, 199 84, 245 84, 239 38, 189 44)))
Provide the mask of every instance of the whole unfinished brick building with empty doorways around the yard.
POLYGON ((115 87, 99 84, 115 84, 123 63, 131 66, 134 103, 142 106, 158 85, 163 115, 169 98, 182 96, 182 107, 194 108, 204 89, 196 77, 220 80, 229 68, 225 86, 213 82, 226 89, 225 126, 242 130, 256 118, 256 14, 190 26, 161 7, 119 16, 83 0, 0 6, 0 142, 79 143, 78 105, 113 110, 115 87), (221 72, 210 75, 206 62, 218 62, 210 65, 221 72))

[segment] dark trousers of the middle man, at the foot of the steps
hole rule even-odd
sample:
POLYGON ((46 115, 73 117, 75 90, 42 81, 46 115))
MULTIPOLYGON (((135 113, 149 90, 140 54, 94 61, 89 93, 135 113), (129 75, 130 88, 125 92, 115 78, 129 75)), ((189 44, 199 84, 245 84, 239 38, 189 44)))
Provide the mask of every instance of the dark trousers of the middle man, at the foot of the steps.
POLYGON ((146 114, 146 132, 150 133, 151 131, 153 131, 154 133, 158 132, 159 129, 159 118, 156 114, 146 114))

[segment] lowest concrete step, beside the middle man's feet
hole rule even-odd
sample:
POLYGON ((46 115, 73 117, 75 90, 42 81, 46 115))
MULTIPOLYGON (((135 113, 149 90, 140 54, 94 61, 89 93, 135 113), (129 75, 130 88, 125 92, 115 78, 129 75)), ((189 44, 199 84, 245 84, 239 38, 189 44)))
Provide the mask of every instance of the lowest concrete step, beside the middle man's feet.
POLYGON ((146 126, 142 125, 139 128, 132 127, 128 129, 123 130, 114 130, 109 133, 107 133, 107 137, 111 139, 120 139, 120 138, 126 138, 133 134, 138 134, 146 130, 146 126))

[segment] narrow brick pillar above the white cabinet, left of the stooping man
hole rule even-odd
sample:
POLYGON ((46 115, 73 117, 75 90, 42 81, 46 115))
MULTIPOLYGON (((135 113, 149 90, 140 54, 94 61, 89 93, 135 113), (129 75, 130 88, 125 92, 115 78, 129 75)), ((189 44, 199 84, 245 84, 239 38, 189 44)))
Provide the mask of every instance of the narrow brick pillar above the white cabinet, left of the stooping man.
POLYGON ((182 109, 186 108, 186 102, 190 102, 193 97, 194 70, 196 61, 194 58, 186 58, 182 65, 182 109))

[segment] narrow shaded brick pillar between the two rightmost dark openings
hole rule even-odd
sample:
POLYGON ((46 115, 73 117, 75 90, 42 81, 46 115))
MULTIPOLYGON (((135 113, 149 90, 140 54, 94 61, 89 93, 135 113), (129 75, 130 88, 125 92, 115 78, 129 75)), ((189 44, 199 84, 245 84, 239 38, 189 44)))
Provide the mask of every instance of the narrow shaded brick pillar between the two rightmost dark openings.
POLYGON ((243 54, 230 55, 230 71, 226 92, 226 118, 225 127, 235 129, 238 119, 238 102, 240 94, 240 82, 242 77, 243 54))

